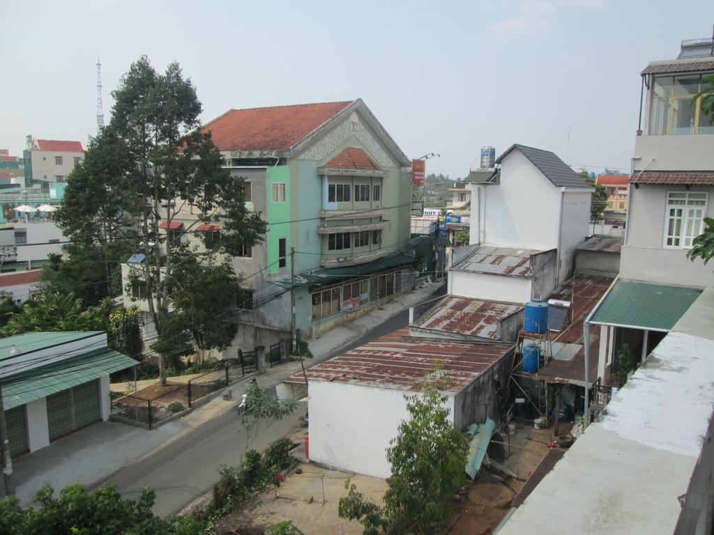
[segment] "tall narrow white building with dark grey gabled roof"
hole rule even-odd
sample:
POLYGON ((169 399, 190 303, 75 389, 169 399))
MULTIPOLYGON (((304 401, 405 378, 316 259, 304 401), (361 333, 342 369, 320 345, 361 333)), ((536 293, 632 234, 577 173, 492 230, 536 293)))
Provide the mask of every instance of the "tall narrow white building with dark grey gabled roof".
MULTIPOLYGON (((554 153, 538 148, 513 145, 496 164, 496 173, 469 178, 471 244, 510 248, 509 256, 522 256, 523 250, 534 251, 531 256, 555 250, 552 285, 538 289, 547 295, 573 273, 575 247, 588 235, 593 188, 554 153)), ((513 285, 494 277, 488 281, 513 285)), ((462 287, 455 285, 453 292, 471 295, 462 287)), ((532 297, 524 291, 521 295, 526 301, 532 297)), ((509 295, 473 297, 513 300, 509 295)))

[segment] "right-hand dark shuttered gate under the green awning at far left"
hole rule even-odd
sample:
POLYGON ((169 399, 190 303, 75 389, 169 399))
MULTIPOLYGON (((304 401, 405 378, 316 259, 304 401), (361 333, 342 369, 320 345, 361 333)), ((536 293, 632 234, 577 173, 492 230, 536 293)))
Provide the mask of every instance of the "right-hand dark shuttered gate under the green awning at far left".
POLYGON ((97 380, 47 396, 50 442, 101 419, 97 380))

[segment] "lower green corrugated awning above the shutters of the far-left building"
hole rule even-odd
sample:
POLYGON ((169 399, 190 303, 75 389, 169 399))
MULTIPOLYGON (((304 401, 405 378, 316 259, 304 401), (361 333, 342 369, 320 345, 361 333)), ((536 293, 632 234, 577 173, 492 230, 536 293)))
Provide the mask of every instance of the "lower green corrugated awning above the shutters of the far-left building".
POLYGON ((53 362, 51 365, 9 377, 2 384, 4 409, 12 409, 35 399, 55 394, 79 384, 99 379, 137 365, 136 360, 109 347, 95 350, 81 357, 53 362))

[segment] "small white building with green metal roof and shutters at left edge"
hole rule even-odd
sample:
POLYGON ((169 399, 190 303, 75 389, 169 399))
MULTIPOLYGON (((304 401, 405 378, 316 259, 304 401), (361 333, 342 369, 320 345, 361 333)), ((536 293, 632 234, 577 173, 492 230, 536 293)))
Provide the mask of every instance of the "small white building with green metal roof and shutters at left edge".
POLYGON ((97 331, 6 337, 0 363, 12 457, 109 419, 109 374, 139 364, 107 347, 106 332, 97 331))

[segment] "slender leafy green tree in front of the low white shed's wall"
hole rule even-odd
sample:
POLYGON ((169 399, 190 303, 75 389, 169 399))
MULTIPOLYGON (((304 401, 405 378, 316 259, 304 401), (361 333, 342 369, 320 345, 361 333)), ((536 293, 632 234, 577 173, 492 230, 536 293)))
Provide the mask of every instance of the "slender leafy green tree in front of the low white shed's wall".
POLYGON ((421 394, 406 396, 410 418, 399 425, 387 449, 392 475, 380 508, 346 483, 339 515, 357 519, 365 535, 431 534, 443 529, 453 511, 448 502, 463 483, 468 444, 448 419, 443 386, 423 385, 421 394))

